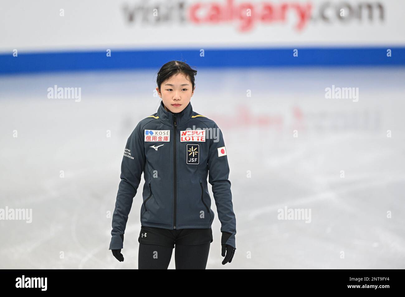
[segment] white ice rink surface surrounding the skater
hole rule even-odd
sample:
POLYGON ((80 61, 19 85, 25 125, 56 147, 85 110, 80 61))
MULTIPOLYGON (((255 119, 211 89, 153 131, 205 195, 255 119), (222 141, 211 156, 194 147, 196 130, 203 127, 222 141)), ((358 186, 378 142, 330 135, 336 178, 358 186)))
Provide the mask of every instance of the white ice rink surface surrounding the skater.
MULTIPOLYGON (((0 208, 32 209, 31 223, 0 220, 0 268, 138 267, 143 178, 124 262, 108 214, 127 137, 160 103, 156 72, 0 76, 0 208), (54 85, 80 102, 48 99, 54 85)), ((212 201, 207 269, 405 268, 404 82, 399 67, 198 69, 192 107, 224 134, 237 219, 222 265, 212 201), (333 85, 358 101, 326 99, 333 85), (278 219, 285 208, 310 220, 278 219)))

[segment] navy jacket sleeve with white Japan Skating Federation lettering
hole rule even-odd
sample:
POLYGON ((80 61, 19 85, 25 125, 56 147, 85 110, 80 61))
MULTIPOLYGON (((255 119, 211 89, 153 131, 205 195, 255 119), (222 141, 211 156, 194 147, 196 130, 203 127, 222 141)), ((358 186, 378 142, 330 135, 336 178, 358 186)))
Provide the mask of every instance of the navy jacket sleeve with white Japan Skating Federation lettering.
POLYGON ((121 163, 121 181, 113 213, 110 250, 123 248, 124 232, 132 201, 136 195, 145 166, 145 147, 141 122, 128 137, 121 163))

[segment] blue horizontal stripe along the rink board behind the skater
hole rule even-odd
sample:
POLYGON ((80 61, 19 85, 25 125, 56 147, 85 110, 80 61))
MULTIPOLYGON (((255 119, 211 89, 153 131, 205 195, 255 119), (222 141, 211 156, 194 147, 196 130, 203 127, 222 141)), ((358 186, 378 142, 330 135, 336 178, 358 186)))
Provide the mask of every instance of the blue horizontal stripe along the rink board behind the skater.
POLYGON ((130 70, 160 68, 171 60, 198 67, 283 67, 283 66, 404 66, 405 47, 298 47, 292 48, 206 48, 173 50, 112 50, 13 53, 0 55, 0 74, 55 71, 130 70), (387 57, 387 49, 392 57, 387 57))

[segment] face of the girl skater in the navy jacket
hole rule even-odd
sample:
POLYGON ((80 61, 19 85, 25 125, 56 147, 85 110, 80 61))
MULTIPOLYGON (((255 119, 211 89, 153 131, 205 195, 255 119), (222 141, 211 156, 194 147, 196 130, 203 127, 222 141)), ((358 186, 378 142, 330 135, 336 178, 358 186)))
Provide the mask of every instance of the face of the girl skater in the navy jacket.
POLYGON ((156 91, 160 98, 162 98, 166 110, 170 110, 173 113, 181 112, 185 109, 194 94, 191 81, 183 73, 178 73, 165 80, 160 86, 161 92, 159 92, 158 87, 156 87, 156 91))

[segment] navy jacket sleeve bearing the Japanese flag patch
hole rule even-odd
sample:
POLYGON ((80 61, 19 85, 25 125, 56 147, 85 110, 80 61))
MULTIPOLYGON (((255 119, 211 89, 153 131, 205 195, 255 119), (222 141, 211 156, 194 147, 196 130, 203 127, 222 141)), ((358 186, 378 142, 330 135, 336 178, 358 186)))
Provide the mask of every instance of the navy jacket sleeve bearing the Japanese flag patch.
POLYGON ((209 145, 208 181, 212 185, 218 218, 221 222, 221 232, 223 238, 225 238, 222 244, 229 244, 236 249, 236 218, 233 212, 232 193, 230 191, 231 183, 228 179, 228 156, 226 155, 222 131, 218 128, 216 123, 214 123, 212 135, 214 137, 211 137, 209 145))

